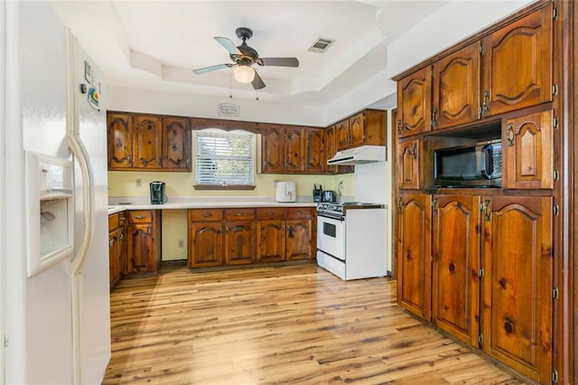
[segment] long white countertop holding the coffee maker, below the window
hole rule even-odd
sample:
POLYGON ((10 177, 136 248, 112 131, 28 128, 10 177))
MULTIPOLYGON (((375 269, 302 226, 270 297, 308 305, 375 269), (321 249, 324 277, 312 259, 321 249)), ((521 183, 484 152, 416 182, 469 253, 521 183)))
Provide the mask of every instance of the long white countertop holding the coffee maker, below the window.
POLYGON ((108 214, 125 210, 187 210, 233 207, 316 207, 311 199, 275 202, 270 197, 172 197, 163 204, 151 204, 148 197, 114 197, 108 200, 108 214))

